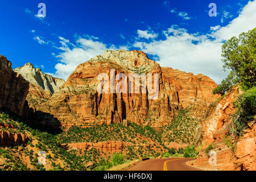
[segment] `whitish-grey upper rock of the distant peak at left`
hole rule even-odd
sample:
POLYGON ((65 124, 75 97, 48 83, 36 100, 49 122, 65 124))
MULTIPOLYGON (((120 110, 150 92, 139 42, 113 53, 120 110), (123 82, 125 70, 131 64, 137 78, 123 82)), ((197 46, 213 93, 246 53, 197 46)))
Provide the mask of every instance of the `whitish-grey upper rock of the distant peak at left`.
POLYGON ((43 90, 49 91, 52 94, 59 91, 59 87, 65 82, 64 79, 55 78, 43 73, 40 68, 35 68, 31 63, 15 68, 14 71, 22 75, 28 82, 38 85, 43 90))

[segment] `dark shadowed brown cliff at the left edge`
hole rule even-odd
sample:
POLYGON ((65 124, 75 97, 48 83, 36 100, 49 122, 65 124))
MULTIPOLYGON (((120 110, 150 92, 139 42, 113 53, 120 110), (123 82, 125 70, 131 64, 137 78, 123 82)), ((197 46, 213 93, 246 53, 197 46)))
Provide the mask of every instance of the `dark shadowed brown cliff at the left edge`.
POLYGON ((29 82, 11 68, 11 62, 0 56, 0 108, 5 108, 18 115, 27 117, 26 96, 29 82))

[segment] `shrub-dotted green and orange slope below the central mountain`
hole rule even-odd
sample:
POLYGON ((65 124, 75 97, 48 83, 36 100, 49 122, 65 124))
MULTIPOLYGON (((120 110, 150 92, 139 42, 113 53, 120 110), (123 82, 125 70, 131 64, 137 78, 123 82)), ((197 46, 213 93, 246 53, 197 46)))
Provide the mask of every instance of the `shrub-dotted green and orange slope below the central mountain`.
MULTIPOLYGON (((175 127, 167 126, 155 130, 150 126, 139 126, 128 122, 122 124, 92 126, 87 128, 71 127, 68 131, 44 131, 40 126, 34 126, 31 121, 23 120, 16 115, 0 113, 0 122, 14 126, 9 129, 28 135, 30 140, 25 146, 4 147, 0 146, 0 160, 5 160, 0 170, 106 170, 112 166, 122 164, 127 160, 138 158, 158 158, 158 156, 188 156, 187 149, 168 148, 163 143, 168 140, 176 142, 192 142, 193 132, 189 131, 196 126, 188 115, 188 110, 181 110, 174 119, 175 127), (171 127, 174 135, 168 135, 167 129, 171 127), (182 139, 179 140, 179 135, 182 139), (171 138, 174 139, 171 139, 171 138), (164 139, 163 139, 164 138, 164 139), (131 143, 119 153, 111 154, 98 151, 96 148, 89 150, 69 150, 63 147, 64 143, 123 141, 131 143), (38 152, 46 152, 46 165, 38 163, 38 152), (86 164, 91 163, 89 166, 86 164)), ((0 129, 3 130, 3 129, 0 129)), ((189 150, 191 151, 191 150, 189 150)), ((196 154, 196 152, 189 153, 196 154)))

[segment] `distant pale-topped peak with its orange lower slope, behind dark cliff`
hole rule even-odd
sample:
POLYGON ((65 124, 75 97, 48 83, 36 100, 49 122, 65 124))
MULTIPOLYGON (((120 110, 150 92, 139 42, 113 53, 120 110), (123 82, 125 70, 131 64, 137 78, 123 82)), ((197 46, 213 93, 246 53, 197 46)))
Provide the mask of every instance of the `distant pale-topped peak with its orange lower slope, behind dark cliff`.
POLYGON ((36 105, 51 98, 52 94, 59 91, 59 87, 65 82, 63 79, 43 73, 40 68, 35 68, 31 63, 15 68, 14 71, 30 82, 27 101, 28 105, 34 109, 36 105))

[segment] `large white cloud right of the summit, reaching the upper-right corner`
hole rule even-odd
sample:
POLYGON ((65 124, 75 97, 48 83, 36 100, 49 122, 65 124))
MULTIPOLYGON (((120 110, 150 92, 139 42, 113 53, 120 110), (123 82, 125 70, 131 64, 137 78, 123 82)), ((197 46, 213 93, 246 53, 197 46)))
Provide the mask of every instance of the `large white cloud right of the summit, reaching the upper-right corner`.
POLYGON ((256 1, 249 2, 227 26, 210 27, 210 34, 189 34, 184 28, 171 26, 163 31, 166 39, 151 40, 149 43, 137 41, 134 47, 158 56, 159 64, 163 67, 194 74, 203 73, 220 83, 228 75, 222 68, 222 42, 254 28, 255 9, 256 1))

